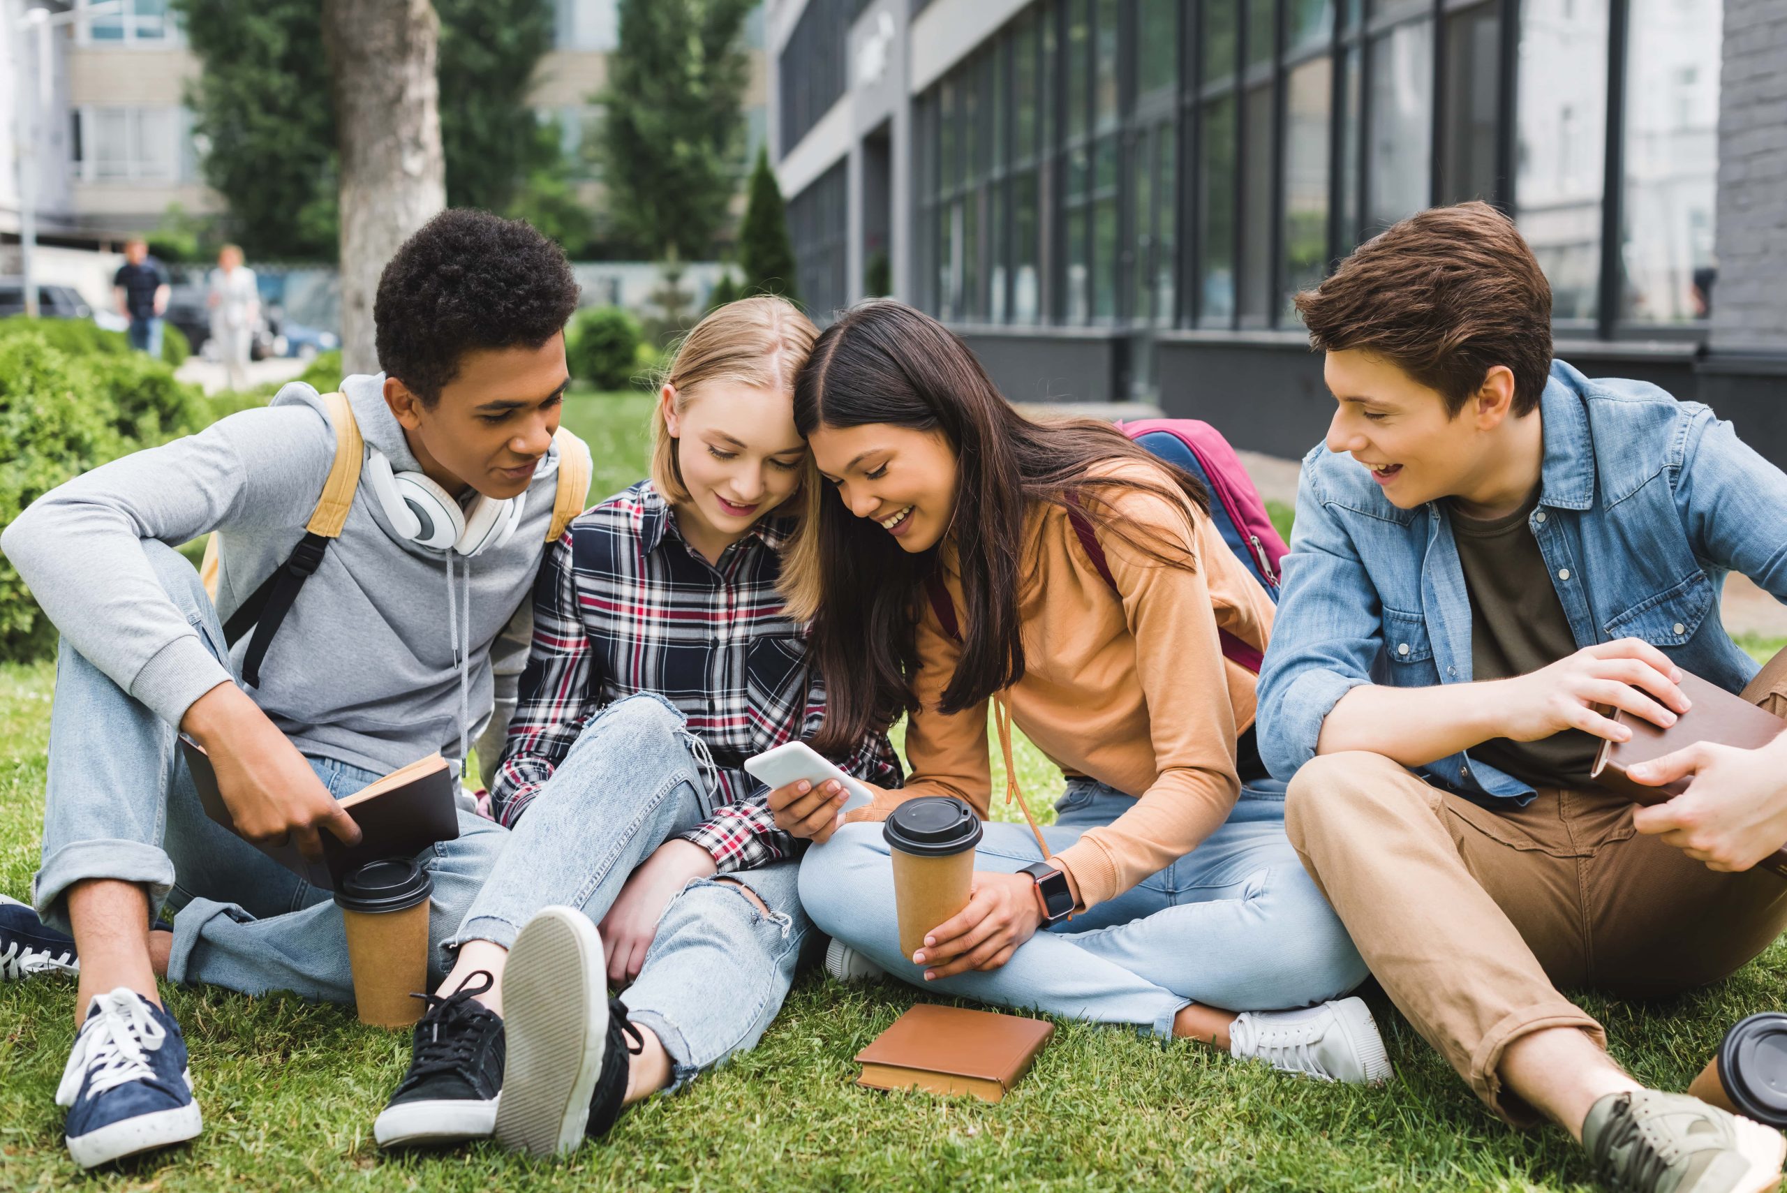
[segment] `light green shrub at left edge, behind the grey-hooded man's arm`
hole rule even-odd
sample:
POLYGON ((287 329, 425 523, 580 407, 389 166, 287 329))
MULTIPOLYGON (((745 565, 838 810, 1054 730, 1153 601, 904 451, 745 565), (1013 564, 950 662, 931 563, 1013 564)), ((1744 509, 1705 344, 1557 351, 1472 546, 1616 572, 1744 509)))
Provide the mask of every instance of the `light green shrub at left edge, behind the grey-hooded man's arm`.
MULTIPOLYGON (((107 404, 91 391, 89 364, 43 336, 0 338, 0 459, 7 461, 0 529, 61 482, 129 450, 107 404)), ((13 563, 0 559, 0 661, 38 659, 54 648, 55 627, 13 563)))

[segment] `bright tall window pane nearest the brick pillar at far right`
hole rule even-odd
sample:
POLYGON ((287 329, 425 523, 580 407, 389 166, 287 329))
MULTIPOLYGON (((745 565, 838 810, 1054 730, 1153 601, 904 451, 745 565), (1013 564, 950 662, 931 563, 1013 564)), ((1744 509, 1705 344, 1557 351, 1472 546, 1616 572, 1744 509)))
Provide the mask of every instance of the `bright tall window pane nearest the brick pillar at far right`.
POLYGON ((1687 323, 1712 311, 1723 5, 1632 0, 1619 318, 1687 323))

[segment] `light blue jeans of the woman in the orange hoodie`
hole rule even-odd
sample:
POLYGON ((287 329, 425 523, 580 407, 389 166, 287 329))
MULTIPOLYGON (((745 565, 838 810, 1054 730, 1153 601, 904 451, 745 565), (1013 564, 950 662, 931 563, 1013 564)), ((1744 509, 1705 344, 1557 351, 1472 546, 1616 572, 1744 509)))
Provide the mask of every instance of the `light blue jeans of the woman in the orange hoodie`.
MULTIPOLYGON (((1045 827, 1049 848, 1106 825, 1128 795, 1074 779, 1045 827)), ((974 868, 997 873, 1042 861, 1026 825, 988 823, 974 868)), ((1303 1007, 1365 980, 1365 963, 1285 839, 1285 784, 1242 788, 1228 822, 1203 845, 1122 895, 1036 932, 992 972, 924 980, 899 952, 894 870, 881 825, 845 825, 801 863, 813 925, 922 989, 1061 1018, 1138 1023, 1172 1034, 1188 1004, 1226 1011, 1303 1007)))

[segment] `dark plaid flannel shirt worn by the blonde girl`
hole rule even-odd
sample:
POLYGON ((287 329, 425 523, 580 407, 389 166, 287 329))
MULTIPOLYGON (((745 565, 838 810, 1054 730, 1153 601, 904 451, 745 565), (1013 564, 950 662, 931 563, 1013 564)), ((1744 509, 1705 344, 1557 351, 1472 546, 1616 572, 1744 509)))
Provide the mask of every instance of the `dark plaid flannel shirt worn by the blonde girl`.
MULTIPOLYGON (((515 825, 602 707, 656 691, 713 757, 704 777, 715 813, 683 838, 722 873, 793 857, 768 788, 743 772, 747 757, 811 736, 826 714, 806 630, 776 591, 790 529, 765 518, 709 564, 650 480, 579 514, 534 588, 533 652, 491 789, 497 820, 515 825)), ((883 788, 902 782, 886 734, 838 766, 883 788)))

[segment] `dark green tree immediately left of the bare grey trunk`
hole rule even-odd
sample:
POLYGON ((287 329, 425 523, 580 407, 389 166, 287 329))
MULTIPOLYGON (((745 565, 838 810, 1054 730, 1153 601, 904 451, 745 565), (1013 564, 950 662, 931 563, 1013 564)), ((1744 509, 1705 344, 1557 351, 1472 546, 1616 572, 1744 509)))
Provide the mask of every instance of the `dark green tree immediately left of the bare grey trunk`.
POLYGON ((204 64, 186 89, 204 175, 250 259, 332 259, 336 132, 316 0, 175 0, 204 64))

